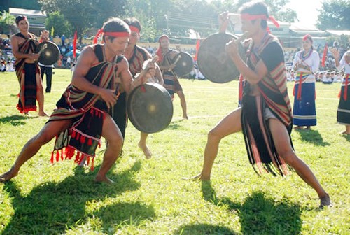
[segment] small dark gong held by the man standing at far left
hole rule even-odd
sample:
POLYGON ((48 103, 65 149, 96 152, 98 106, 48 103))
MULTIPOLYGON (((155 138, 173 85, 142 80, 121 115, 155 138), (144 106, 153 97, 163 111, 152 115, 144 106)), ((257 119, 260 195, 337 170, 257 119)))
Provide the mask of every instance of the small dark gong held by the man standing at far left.
POLYGON ((50 41, 37 45, 36 53, 40 54, 38 62, 44 65, 55 64, 59 59, 59 48, 50 41))

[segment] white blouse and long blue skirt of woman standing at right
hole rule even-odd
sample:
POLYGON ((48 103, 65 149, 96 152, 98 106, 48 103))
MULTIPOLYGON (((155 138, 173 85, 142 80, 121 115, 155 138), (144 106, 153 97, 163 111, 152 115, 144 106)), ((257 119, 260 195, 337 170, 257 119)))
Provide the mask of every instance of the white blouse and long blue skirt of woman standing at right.
POLYGON ((320 57, 315 50, 305 53, 301 50, 296 53, 293 67, 299 62, 309 66, 311 71, 299 68, 296 71, 294 86, 293 124, 297 126, 316 126, 316 78, 314 72, 318 71, 320 57))

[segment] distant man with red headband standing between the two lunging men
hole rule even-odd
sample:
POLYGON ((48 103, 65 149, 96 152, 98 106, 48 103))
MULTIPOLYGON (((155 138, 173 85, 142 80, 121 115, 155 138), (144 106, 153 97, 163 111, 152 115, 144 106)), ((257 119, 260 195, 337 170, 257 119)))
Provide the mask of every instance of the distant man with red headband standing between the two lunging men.
POLYGON ((164 86, 172 96, 172 99, 174 99, 174 93, 178 94, 181 102, 182 118, 188 119, 185 94, 183 94, 179 78, 176 76, 176 73, 172 71, 176 66, 176 64, 173 64, 174 57, 179 54, 179 52, 169 48, 169 36, 162 35, 158 41, 159 48, 155 52, 155 55, 159 57, 158 62, 160 64, 160 70, 162 71, 164 86))

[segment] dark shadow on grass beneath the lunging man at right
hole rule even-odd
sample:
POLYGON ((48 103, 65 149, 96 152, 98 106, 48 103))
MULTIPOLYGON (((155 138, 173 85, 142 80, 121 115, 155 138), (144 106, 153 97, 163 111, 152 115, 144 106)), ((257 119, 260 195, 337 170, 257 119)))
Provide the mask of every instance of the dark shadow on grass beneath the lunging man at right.
POLYGON ((218 199, 210 181, 202 182, 202 194, 206 201, 224 204, 228 211, 239 215, 241 234, 300 234, 300 206, 287 199, 274 201, 260 191, 249 195, 243 204, 229 198, 218 199))

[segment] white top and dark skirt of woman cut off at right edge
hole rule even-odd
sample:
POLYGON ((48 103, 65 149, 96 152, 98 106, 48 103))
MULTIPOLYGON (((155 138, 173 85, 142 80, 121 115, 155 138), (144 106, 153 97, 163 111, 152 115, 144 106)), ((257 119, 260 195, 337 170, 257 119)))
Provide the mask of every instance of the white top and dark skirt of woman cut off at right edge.
MULTIPOLYGON (((346 52, 346 53, 349 53, 346 52)), ((350 124, 350 64, 345 60, 344 53, 342 59, 339 61, 337 69, 342 70, 344 67, 345 73, 342 79, 342 88, 339 94, 339 105, 337 109, 337 122, 339 124, 350 124)))

